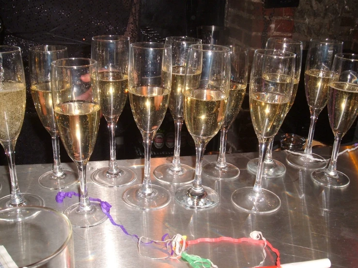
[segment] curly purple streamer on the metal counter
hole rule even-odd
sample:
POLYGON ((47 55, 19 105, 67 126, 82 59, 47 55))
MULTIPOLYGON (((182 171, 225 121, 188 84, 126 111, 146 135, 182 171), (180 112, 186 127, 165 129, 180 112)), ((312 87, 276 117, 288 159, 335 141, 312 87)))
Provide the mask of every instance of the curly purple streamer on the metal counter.
MULTIPOLYGON (((55 199, 56 199, 56 202, 57 202, 57 203, 62 203, 62 202, 63 202, 63 199, 64 199, 65 197, 70 197, 70 198, 71 198, 73 195, 75 195, 75 196, 80 196, 78 193, 75 193, 75 192, 58 192, 58 193, 56 194, 55 199)), ((108 202, 102 201, 102 200, 99 199, 99 198, 92 198, 92 197, 90 197, 89 199, 90 199, 90 201, 99 202, 99 203, 101 204, 101 209, 102 209, 103 213, 105 213, 106 216, 108 217, 110 223, 112 223, 112 224, 115 225, 115 226, 121 227, 122 231, 123 231, 127 236, 132 236, 132 237, 135 237, 135 238, 139 239, 139 236, 129 234, 129 233, 127 232, 127 230, 125 230, 125 226, 123 226, 123 225, 121 225, 121 224, 117 224, 117 223, 114 222, 112 216, 111 216, 110 213, 109 213, 109 210, 110 210, 110 208, 111 208, 112 206, 111 206, 108 202)), ((162 237, 162 241, 164 241, 166 237, 168 237, 168 238, 170 239, 169 234, 165 234, 165 235, 162 237)), ((151 244, 151 243, 157 244, 155 241, 142 242, 142 243, 143 243, 143 244, 151 244)), ((174 253, 174 251, 171 250, 171 255, 172 255, 173 253, 174 253)))

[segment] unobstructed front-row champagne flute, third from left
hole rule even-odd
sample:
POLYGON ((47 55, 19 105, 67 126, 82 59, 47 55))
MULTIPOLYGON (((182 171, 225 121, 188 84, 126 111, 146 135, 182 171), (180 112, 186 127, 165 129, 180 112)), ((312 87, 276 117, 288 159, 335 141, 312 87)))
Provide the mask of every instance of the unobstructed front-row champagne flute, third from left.
POLYGON ((171 45, 149 42, 131 44, 128 88, 133 117, 143 136, 144 179, 142 184, 125 190, 122 199, 132 208, 164 208, 171 201, 171 194, 161 186, 152 185, 150 152, 153 138, 168 108, 171 90, 171 45))

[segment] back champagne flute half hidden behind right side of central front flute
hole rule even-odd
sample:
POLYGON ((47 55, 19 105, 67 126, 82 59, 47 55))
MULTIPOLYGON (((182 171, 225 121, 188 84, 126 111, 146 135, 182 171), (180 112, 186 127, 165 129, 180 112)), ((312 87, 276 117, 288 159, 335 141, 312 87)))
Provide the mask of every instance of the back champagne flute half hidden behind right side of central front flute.
POLYGON ((206 164, 202 169, 203 174, 218 180, 235 179, 240 174, 236 166, 226 163, 225 151, 228 130, 240 111, 248 83, 248 50, 240 46, 229 47, 231 81, 225 119, 220 128, 220 153, 217 162, 206 164))

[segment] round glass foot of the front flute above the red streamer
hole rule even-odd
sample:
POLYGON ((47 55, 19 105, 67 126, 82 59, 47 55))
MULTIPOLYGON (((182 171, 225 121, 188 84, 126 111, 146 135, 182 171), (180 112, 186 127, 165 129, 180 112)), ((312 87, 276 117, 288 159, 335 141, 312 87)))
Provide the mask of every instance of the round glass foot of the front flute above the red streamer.
POLYGON ((252 187, 237 189, 233 192, 231 201, 236 207, 255 214, 271 213, 281 206, 281 200, 276 194, 265 189, 257 194, 252 191, 252 187))

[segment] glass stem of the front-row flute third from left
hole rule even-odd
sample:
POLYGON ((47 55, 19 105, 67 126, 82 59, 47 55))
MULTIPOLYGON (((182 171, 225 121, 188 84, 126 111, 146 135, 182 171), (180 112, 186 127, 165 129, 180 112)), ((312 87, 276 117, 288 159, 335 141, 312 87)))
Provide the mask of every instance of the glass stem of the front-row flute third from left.
POLYGON ((152 181, 150 179, 150 152, 152 149, 153 137, 155 132, 146 133, 142 132, 144 142, 144 179, 142 184, 141 193, 152 193, 152 181))

